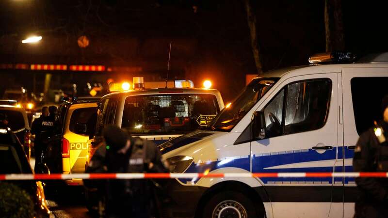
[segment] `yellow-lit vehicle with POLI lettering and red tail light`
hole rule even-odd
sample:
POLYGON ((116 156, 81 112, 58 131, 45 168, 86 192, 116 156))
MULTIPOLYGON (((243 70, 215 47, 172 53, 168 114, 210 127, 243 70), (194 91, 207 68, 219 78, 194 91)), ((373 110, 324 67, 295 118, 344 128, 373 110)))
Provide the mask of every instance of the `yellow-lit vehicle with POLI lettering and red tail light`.
MULTIPOLYGON (((45 162, 51 172, 82 173, 88 157, 87 141, 95 129, 99 98, 73 98, 63 102, 55 121, 55 136, 49 143, 45 162)), ((81 179, 65 180, 67 185, 82 185, 81 179)))

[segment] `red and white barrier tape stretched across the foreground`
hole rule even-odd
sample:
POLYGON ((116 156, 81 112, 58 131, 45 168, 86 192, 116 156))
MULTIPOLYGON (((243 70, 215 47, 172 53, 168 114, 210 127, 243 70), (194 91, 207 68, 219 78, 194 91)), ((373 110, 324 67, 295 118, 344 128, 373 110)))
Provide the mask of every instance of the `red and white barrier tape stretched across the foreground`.
POLYGON ((0 180, 66 179, 192 179, 241 177, 388 177, 388 172, 258 172, 258 173, 73 173, 73 174, 0 174, 0 180))

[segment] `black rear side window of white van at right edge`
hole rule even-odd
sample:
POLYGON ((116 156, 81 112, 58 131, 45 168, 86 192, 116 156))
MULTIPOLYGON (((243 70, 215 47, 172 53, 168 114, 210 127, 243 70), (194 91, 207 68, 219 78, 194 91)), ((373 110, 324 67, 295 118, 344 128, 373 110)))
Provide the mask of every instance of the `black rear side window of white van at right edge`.
POLYGON ((388 78, 358 77, 350 80, 356 130, 361 135, 383 118, 381 100, 388 94, 388 78))

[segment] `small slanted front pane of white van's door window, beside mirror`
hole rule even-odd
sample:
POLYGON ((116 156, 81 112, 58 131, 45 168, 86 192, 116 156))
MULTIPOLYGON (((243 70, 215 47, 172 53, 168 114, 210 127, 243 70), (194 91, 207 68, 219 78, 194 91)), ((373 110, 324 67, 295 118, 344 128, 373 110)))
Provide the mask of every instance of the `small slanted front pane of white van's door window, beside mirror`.
POLYGON ((267 137, 275 137, 281 135, 283 122, 283 99, 284 89, 277 93, 276 97, 264 109, 265 125, 267 129, 267 137))

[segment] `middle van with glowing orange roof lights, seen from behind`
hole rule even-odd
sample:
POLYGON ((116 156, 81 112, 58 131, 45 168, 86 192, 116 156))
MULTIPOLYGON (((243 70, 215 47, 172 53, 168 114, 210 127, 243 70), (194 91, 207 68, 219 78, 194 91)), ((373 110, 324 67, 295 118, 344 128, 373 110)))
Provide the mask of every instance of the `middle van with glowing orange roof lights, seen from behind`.
MULTIPOLYGON (((144 82, 142 77, 133 78, 132 84, 111 83, 112 93, 98 103, 96 131, 88 142, 89 158, 84 167, 100 145, 107 125, 117 125, 155 144, 206 127, 224 109, 221 93, 210 86, 209 80, 204 88, 193 88, 191 80, 144 82), (164 86, 170 88, 153 88, 164 86)), ((96 210, 96 189, 85 188, 87 207, 96 210)))

